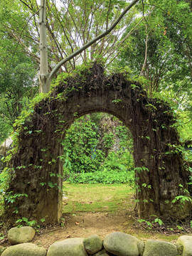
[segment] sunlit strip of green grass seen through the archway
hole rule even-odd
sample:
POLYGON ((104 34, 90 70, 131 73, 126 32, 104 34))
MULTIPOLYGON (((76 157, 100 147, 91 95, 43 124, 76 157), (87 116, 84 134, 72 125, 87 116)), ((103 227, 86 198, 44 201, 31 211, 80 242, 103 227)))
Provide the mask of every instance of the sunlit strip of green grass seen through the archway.
POLYGON ((127 184, 70 184, 64 183, 67 193, 63 213, 114 212, 132 208, 134 191, 127 184))

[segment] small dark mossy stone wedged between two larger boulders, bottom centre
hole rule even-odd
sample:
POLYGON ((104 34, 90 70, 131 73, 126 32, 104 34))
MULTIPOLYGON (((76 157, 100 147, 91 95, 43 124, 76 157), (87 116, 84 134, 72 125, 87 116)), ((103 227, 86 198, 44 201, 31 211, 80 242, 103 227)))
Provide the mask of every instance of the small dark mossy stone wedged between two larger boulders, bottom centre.
POLYGON ((90 235, 88 238, 85 238, 82 242, 85 247, 85 250, 91 255, 102 250, 102 240, 98 235, 90 235))

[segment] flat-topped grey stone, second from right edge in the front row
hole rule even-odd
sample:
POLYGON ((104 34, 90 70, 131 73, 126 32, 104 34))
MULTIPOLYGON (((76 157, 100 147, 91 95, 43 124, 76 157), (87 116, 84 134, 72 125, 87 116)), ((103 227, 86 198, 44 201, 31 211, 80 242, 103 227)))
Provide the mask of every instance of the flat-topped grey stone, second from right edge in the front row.
POLYGON ((147 240, 143 256, 177 256, 177 248, 171 242, 147 240))

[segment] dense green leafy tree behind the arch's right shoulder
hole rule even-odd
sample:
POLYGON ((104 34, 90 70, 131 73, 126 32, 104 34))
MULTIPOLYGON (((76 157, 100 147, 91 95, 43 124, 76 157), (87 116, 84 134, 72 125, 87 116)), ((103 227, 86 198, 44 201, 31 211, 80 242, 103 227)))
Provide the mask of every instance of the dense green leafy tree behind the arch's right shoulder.
MULTIPOLYGON (((191 2, 144 1, 143 14, 143 21, 117 51, 112 68, 126 71, 131 79, 144 84, 151 97, 172 105, 184 141, 192 135, 188 129, 192 92, 191 2), (154 9, 146 16, 149 6, 154 9)), ((134 28, 137 22, 131 26, 134 28)), ((124 38, 127 34, 129 31, 124 38)))

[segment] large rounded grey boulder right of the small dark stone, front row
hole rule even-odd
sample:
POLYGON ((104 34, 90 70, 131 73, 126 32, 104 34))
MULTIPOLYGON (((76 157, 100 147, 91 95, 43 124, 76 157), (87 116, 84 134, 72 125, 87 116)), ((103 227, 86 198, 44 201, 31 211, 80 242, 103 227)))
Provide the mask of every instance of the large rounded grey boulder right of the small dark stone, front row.
POLYGON ((138 256, 138 242, 139 239, 134 238, 132 235, 114 232, 110 235, 106 235, 103 245, 107 252, 117 256, 138 256))

